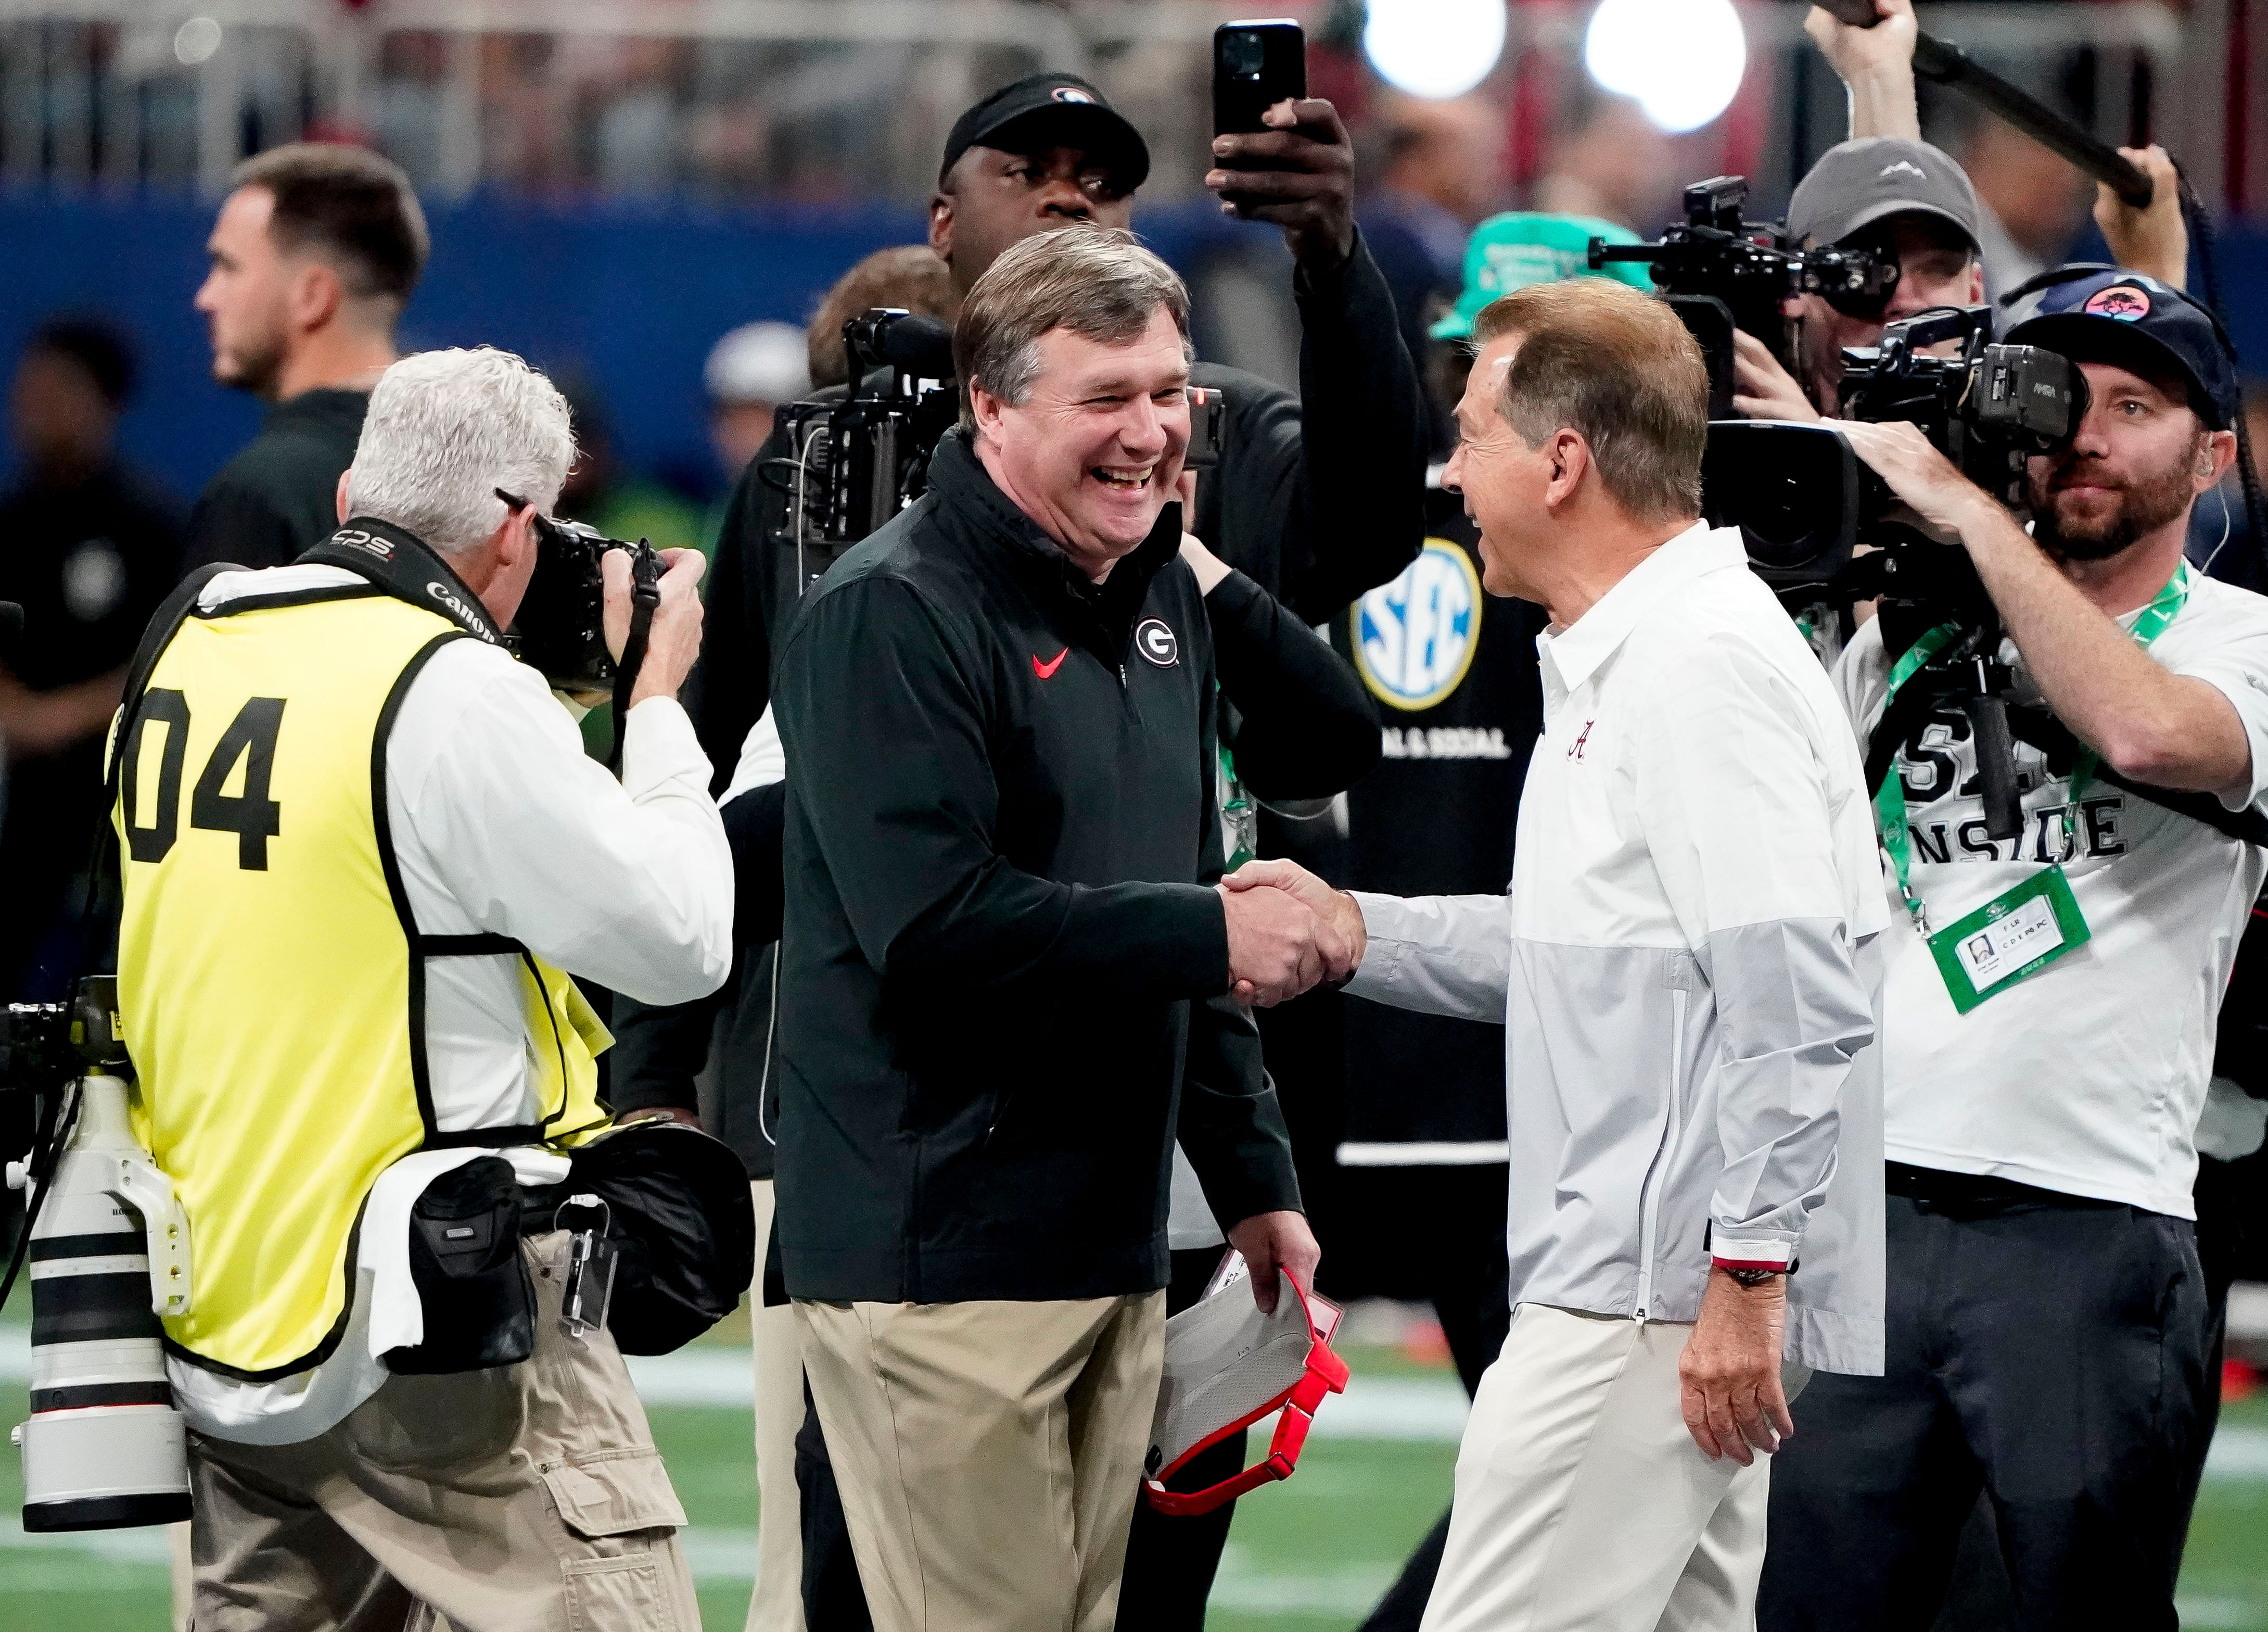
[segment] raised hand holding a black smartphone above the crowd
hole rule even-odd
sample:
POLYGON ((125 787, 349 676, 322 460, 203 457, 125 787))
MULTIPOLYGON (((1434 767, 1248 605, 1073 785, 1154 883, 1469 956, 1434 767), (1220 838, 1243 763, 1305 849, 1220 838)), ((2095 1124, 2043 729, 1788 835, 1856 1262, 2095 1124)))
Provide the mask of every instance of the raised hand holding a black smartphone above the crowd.
POLYGON ((1354 143, 1322 98, 1306 95, 1297 23, 1222 23, 1213 32, 1213 170, 1220 211, 1268 220, 1311 270, 1354 254, 1354 143))

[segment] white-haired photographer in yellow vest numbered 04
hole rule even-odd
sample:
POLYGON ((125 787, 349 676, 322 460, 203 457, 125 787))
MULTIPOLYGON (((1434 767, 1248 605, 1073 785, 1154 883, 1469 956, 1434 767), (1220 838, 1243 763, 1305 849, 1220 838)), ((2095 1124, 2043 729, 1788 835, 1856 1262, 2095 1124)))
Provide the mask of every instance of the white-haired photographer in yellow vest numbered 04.
MULTIPOLYGON (((565 1178, 556 1142, 606 1121, 606 1033, 569 971, 685 1001, 730 942, 676 704, 699 554, 660 581, 619 785, 497 636, 572 459, 567 404, 517 356, 395 363, 345 524, 295 565, 195 574, 127 685, 118 992, 195 1251, 166 1337, 200 1627, 696 1621, 615 1339, 562 1321, 567 1235, 519 1239, 519 1187, 565 1178), (494 1196, 449 1242, 476 1217, 517 1276, 528 1364, 417 1271, 426 1196, 467 1185, 494 1196)), ((619 658, 617 554, 603 599, 619 658)))

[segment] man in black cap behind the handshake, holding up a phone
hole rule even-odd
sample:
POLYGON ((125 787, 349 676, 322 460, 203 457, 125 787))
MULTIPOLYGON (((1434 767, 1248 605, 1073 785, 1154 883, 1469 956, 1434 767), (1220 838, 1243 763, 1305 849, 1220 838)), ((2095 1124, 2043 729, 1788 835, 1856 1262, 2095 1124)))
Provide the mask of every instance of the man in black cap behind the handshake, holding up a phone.
MULTIPOLYGON (((1279 104, 1261 134, 1218 136, 1207 186, 1243 220, 1284 229, 1300 302, 1300 393, 1198 363, 1191 384, 1229 406, 1220 468, 1200 483, 1188 531, 1222 561, 1320 624, 1390 581, 1424 540, 1427 406, 1402 343, 1393 291, 1354 227, 1354 150, 1325 100, 1279 104)), ((946 138, 930 197, 930 247, 966 297, 1032 234, 1127 227, 1150 150, 1086 79, 1043 73, 971 107, 946 138)), ((767 463, 773 434, 735 486, 710 581, 710 636, 694 724, 723 788, 771 695, 771 647, 807 583, 794 552, 764 540, 785 515, 767 463)))

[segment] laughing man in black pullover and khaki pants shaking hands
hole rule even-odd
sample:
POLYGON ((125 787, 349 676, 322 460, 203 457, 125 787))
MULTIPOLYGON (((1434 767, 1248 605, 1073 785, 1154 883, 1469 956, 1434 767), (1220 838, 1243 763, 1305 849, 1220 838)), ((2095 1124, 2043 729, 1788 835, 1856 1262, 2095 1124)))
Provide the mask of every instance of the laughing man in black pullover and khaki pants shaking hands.
POLYGON ((780 651, 780 1257, 882 1632, 1111 1627, 1175 1137, 1263 1305, 1318 1255, 1232 994, 1345 947, 1218 887, 1186 322, 1125 234, 1007 250, 930 495, 780 651))

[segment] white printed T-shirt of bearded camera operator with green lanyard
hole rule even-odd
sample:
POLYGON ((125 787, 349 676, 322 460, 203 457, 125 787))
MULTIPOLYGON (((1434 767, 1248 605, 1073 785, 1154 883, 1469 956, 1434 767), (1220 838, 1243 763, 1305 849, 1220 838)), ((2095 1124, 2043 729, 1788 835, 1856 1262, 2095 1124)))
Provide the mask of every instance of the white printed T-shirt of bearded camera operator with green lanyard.
MULTIPOLYGON (((2134 617, 2118 622, 2132 629, 2134 617)), ((2000 656, 2014 667, 2019 701, 2037 704, 2016 649, 2000 656)), ((2268 813, 2268 599, 2193 572, 2150 658, 2229 699, 2252 767, 2220 804, 2268 813)), ((1880 620, 1857 631, 1835 679, 1857 731, 1871 731, 1889 690, 1880 620)), ((2062 858, 2089 937, 1962 1015, 1898 908, 1885 937, 1892 1160, 2195 1217, 2214 1024, 2268 851, 2096 781, 2080 790, 2066 856, 2071 781, 2028 742, 2016 742, 2023 833, 1991 840, 1966 717, 1930 717, 1903 747, 1896 774, 1914 833, 1912 883, 1930 926, 1953 924, 2062 858)))

